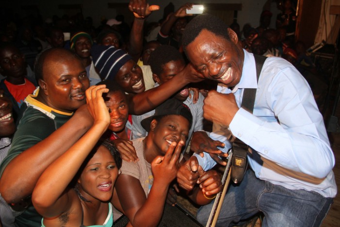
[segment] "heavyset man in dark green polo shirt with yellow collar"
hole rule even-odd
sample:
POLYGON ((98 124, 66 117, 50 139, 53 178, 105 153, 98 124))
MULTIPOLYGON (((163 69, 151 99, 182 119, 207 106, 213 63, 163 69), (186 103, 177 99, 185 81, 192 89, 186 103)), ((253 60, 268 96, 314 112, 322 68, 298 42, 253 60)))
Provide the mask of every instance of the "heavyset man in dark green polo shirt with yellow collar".
POLYGON ((41 226, 30 203, 39 176, 92 125, 84 105, 89 80, 74 53, 58 48, 44 52, 35 76, 39 88, 22 104, 12 147, 0 166, 1 195, 14 210, 23 211, 16 225, 25 227, 41 226))

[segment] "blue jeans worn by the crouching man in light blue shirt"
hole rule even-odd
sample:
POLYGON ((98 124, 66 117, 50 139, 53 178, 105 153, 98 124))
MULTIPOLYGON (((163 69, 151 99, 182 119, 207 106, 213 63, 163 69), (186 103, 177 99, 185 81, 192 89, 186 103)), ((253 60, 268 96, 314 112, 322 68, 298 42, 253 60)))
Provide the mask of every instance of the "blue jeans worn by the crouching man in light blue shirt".
MULTIPOLYGON (((314 227, 320 226, 333 198, 317 192, 289 190, 255 177, 248 170, 243 181, 230 185, 224 197, 217 227, 237 225, 258 212, 263 212, 263 227, 314 227)), ((205 226, 213 202, 197 211, 197 220, 205 226)))

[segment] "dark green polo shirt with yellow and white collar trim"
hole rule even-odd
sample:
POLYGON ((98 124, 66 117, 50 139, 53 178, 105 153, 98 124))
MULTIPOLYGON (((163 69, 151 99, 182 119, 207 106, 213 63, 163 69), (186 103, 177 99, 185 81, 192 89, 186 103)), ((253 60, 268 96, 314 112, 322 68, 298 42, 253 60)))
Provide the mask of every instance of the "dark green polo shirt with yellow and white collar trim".
MULTIPOLYGON (((62 112, 37 101, 35 98, 38 91, 34 95, 29 95, 21 105, 17 131, 12 140, 12 147, 0 165, 0 175, 2 175, 8 163, 17 155, 46 139, 73 115, 73 113, 62 112)), ((18 168, 25 171, 24 166, 18 166, 18 168)), ((16 217, 16 225, 40 227, 41 219, 42 216, 35 211, 31 204, 21 215, 16 217)))

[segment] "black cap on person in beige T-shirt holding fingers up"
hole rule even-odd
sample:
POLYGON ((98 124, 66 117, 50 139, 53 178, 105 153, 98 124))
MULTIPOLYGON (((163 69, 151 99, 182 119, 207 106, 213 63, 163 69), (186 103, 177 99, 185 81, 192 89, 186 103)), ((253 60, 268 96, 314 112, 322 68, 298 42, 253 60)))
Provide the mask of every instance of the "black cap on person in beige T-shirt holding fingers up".
POLYGON ((140 124, 147 132, 149 132, 153 118, 165 115, 181 115, 188 120, 189 128, 191 127, 192 115, 189 107, 175 98, 168 99, 161 105, 157 106, 154 110, 154 115, 142 120, 140 124))

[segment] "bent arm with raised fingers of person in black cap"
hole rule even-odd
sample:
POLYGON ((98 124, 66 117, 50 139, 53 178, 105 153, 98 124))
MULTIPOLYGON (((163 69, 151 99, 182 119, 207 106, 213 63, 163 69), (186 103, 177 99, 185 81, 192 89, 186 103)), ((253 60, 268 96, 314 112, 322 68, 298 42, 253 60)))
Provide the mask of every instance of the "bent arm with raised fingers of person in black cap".
POLYGON ((118 177, 116 190, 120 204, 132 226, 157 226, 161 219, 168 187, 179 167, 178 158, 184 143, 173 142, 163 157, 152 162, 153 186, 148 198, 135 177, 122 174, 118 177))

